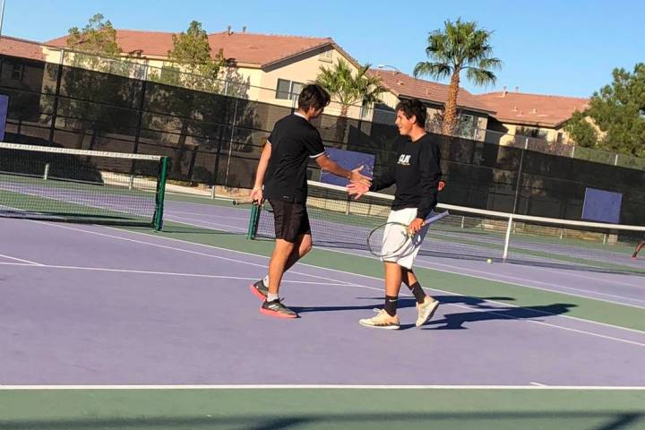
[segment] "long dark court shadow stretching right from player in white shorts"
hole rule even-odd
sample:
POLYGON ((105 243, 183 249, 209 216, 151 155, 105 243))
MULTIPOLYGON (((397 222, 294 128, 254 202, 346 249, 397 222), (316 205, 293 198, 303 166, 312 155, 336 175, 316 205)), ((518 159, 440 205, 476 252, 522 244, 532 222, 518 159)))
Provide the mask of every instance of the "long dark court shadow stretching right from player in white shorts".
POLYGON ((483 312, 444 314, 443 319, 426 323, 423 330, 466 330, 468 329, 466 326, 468 323, 482 323, 497 320, 534 320, 567 314, 572 307, 576 306, 569 303, 512 307, 492 307, 484 305, 479 307, 489 308, 489 310, 483 312))

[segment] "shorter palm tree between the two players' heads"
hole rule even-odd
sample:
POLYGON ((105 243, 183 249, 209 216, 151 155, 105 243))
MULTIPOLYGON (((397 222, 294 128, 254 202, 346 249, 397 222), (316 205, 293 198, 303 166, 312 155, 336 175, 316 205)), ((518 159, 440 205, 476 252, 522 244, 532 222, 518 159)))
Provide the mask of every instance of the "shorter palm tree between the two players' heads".
POLYGON ((336 129, 339 142, 345 136, 349 107, 358 103, 365 106, 381 101, 381 94, 386 91, 381 85, 381 78, 368 73, 371 66, 372 64, 362 65, 354 73, 349 64, 340 59, 331 68, 321 66, 316 77, 315 82, 328 90, 331 98, 340 103, 340 118, 336 129))

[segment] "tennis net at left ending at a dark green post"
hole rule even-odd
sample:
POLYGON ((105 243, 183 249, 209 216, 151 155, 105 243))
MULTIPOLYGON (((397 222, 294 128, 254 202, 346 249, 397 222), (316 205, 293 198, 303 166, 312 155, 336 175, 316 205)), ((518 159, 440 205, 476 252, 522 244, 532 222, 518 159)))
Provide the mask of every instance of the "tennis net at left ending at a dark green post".
POLYGON ((0 142, 0 217, 161 229, 168 160, 0 142))

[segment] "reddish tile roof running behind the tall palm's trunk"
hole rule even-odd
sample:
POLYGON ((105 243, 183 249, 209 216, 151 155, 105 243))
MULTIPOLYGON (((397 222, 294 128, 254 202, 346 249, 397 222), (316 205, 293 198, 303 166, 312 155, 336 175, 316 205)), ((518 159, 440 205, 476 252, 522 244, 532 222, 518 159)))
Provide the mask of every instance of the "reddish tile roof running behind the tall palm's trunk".
MULTIPOLYGON (((372 69, 370 72, 380 76, 383 86, 397 97, 423 99, 441 104, 445 104, 448 100, 448 85, 443 83, 416 79, 409 74, 389 70, 372 69)), ((495 112, 495 109, 488 107, 463 88, 460 88, 457 96, 457 106, 488 113, 495 112)))

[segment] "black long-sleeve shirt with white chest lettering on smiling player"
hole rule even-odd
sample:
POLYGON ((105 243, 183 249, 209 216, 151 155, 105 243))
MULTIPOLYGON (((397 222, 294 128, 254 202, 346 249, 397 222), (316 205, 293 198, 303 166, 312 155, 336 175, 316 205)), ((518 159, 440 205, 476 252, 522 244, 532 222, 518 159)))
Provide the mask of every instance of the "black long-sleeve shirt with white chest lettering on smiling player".
POLYGON ((396 184, 393 210, 417 208, 417 218, 426 219, 437 203, 437 184, 441 177, 441 151, 429 134, 416 142, 400 142, 397 161, 382 176, 374 177, 370 191, 396 184))

